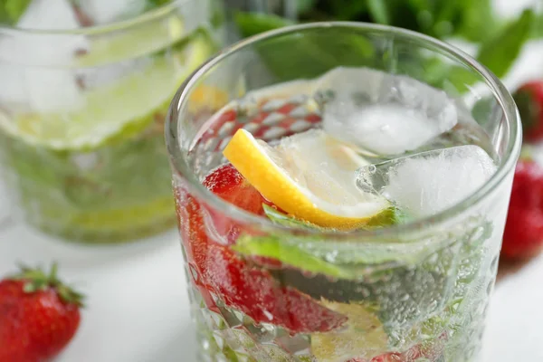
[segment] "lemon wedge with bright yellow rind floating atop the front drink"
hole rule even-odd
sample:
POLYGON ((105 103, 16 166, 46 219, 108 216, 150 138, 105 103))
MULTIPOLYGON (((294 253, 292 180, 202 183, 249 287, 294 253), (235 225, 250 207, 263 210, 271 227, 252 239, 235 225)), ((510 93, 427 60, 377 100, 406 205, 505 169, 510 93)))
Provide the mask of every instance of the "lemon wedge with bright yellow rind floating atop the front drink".
POLYGON ((367 161, 323 130, 282 138, 272 148, 239 129, 224 157, 273 204, 312 224, 349 230, 391 217, 384 197, 356 186, 354 171, 367 161))

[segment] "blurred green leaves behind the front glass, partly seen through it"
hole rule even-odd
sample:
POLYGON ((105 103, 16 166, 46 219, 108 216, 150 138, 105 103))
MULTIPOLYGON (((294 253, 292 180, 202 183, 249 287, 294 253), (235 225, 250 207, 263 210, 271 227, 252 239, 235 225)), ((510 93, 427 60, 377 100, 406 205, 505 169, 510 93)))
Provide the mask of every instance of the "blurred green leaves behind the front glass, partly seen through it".
MULTIPOLYGON (((443 40, 464 39, 478 45, 477 60, 498 77, 507 74, 530 37, 543 36, 542 14, 527 9, 516 18, 503 19, 495 14, 491 0, 299 0, 298 5, 300 22, 349 20, 390 24, 443 40)), ((237 13, 234 20, 245 37, 292 24, 271 14, 237 13)), ((378 68, 382 59, 375 58, 378 48, 375 45, 356 33, 349 36, 329 32, 298 38, 295 44, 282 39, 258 50, 275 75, 281 80, 291 80, 318 76, 338 65, 378 68), (285 59, 289 59, 289 64, 285 64, 285 59)), ((461 67, 439 59, 428 62, 433 73, 424 77, 433 76, 433 84, 447 79, 460 91, 477 81, 477 77, 461 67)))

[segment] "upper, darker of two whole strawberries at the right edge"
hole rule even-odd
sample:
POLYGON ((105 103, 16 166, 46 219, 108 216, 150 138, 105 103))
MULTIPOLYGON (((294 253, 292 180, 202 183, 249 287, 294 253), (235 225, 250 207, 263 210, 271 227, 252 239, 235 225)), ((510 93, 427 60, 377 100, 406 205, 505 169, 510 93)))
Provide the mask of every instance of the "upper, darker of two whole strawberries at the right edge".
POLYGON ((529 81, 513 93, 519 107, 524 139, 538 141, 543 138, 543 80, 529 81))

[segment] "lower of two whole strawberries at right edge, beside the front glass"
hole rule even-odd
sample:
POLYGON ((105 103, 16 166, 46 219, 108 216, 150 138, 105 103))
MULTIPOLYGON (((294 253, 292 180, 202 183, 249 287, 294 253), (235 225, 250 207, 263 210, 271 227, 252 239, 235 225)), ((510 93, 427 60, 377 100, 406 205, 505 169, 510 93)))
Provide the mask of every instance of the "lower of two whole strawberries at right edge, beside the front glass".
POLYGON ((543 168, 519 160, 511 192, 501 255, 525 259, 543 248, 543 168))

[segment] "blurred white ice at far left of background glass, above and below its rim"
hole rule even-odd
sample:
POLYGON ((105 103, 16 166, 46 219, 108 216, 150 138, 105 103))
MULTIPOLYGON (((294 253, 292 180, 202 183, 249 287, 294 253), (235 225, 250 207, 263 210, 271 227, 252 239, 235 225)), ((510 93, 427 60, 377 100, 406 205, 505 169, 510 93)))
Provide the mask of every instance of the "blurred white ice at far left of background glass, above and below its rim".
MULTIPOLYGON (((79 27, 68 0, 33 0, 17 23, 33 30, 70 30, 79 27)), ((27 33, 22 41, 0 39, 0 99, 29 103, 33 110, 67 110, 81 103, 74 72, 68 69, 75 52, 85 49, 82 35, 27 33), (31 66, 29 64, 33 64, 31 66), (56 69, 54 69, 56 67, 56 69)))

